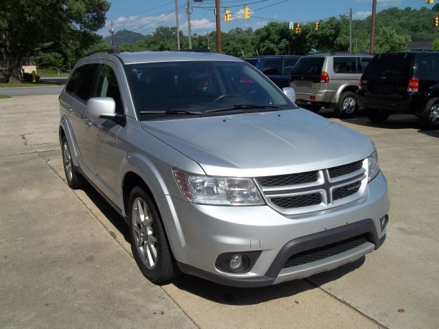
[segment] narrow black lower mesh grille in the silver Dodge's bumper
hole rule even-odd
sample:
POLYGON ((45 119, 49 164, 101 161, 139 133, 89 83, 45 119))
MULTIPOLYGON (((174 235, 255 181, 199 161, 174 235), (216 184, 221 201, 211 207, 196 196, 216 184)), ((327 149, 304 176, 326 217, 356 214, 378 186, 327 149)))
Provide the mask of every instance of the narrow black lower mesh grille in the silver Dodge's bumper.
POLYGON ((368 239, 364 235, 355 236, 351 239, 346 239, 340 242, 332 243, 331 245, 324 245, 323 247, 318 247, 316 249, 307 250, 306 252, 300 252, 291 256, 283 268, 294 267, 298 265, 303 265, 307 263, 316 262, 324 258, 335 256, 341 254, 342 252, 347 252, 363 243, 366 243, 368 239))

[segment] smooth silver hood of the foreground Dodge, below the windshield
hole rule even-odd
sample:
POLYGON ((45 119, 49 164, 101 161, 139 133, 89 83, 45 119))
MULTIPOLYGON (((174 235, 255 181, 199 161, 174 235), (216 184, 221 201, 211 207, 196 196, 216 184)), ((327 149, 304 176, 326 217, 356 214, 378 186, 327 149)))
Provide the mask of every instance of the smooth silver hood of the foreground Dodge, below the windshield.
POLYGON ((207 175, 257 177, 318 170, 367 158, 374 148, 363 134, 301 108, 141 125, 198 162, 207 175))

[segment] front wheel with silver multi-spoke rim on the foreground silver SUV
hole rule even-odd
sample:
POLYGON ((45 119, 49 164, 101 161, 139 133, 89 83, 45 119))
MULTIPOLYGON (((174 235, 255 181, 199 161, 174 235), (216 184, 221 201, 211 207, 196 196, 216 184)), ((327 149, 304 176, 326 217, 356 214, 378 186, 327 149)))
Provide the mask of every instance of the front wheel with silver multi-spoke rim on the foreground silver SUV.
POLYGON ((150 195, 136 186, 130 193, 128 205, 131 251, 143 276, 154 283, 175 278, 178 269, 150 195))

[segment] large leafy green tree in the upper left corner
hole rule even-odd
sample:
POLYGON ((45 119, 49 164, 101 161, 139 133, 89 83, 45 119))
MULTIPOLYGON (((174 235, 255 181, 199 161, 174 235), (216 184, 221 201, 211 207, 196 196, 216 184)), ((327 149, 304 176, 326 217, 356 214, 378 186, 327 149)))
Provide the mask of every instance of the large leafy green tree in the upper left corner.
POLYGON ((67 57, 69 65, 78 50, 99 38, 93 32, 104 26, 110 4, 105 0, 1 0, 0 56, 9 82, 21 81, 21 58, 32 56, 40 45, 67 57), (65 49, 65 51, 64 51, 65 49))

